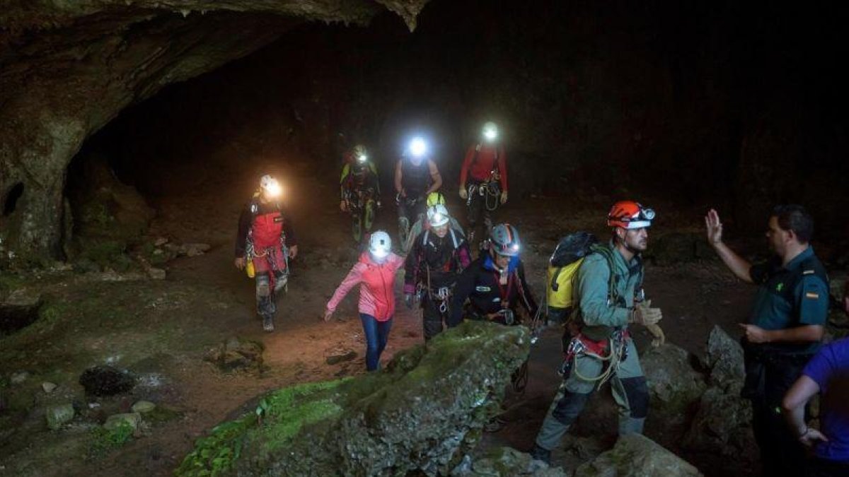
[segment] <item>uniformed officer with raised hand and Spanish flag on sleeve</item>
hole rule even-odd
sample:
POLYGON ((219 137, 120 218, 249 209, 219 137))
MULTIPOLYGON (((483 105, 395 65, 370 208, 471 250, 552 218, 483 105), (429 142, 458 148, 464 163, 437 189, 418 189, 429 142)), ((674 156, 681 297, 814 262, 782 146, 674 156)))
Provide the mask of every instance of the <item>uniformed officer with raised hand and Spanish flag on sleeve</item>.
POLYGON ((781 402, 818 351, 829 309, 829 284, 810 240, 813 219, 801 205, 779 205, 767 223, 773 259, 752 266, 722 242, 716 210, 705 217, 707 239, 725 265, 758 285, 742 345, 752 429, 764 475, 802 475, 805 450, 781 415, 781 402))

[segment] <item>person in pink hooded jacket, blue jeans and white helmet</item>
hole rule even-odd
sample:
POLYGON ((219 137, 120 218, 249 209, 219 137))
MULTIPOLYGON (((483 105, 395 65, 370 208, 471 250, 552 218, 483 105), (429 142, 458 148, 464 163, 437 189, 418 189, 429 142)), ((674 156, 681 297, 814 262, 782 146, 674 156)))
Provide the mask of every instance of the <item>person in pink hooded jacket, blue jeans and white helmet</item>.
POLYGON ((391 252, 392 239, 379 230, 372 234, 368 251, 351 267, 327 303, 324 321, 330 321, 336 306, 357 283, 360 286, 360 320, 366 334, 366 369, 374 371, 380 364, 380 353, 386 347, 392 316, 395 314, 395 276, 404 259, 391 252))

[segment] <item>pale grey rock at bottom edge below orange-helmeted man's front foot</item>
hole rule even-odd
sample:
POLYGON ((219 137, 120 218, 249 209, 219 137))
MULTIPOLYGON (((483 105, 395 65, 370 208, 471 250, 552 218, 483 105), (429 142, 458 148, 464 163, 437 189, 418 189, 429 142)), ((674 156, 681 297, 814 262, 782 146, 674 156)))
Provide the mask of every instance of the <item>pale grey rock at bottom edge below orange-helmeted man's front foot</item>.
POLYGON ((623 435, 616 446, 585 463, 575 477, 697 477, 699 469, 644 435, 623 435))

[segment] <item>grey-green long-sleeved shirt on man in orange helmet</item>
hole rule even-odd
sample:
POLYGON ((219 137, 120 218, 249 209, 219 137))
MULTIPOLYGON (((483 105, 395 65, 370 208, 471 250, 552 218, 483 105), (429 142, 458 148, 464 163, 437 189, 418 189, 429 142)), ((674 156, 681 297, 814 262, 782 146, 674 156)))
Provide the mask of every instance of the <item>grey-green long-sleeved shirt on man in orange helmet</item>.
POLYGON ((616 302, 611 303, 608 300, 611 295, 611 270, 604 255, 588 255, 578 269, 578 306, 585 325, 582 332, 591 338, 602 338, 604 334, 612 332, 612 329, 607 328, 627 326, 634 306, 634 296, 643 283, 643 261, 639 255, 634 255, 631 261, 626 262, 612 241, 607 246, 613 252, 616 302))

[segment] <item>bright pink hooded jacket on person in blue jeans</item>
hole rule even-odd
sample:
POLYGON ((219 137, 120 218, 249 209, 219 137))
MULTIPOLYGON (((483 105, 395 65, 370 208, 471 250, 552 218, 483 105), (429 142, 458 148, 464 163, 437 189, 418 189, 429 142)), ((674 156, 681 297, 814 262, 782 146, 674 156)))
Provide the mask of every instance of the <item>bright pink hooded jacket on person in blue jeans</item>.
POLYGON ((395 273, 403 265, 404 259, 393 253, 390 253, 383 263, 377 263, 372 260, 368 252, 363 252, 363 255, 360 255, 360 261, 354 264, 351 272, 348 272, 333 297, 330 298, 327 309, 336 311, 336 306, 339 306, 339 302, 354 288, 354 285, 362 283, 362 286, 360 286, 360 313, 371 315, 379 322, 389 320, 395 314, 395 292, 393 290, 395 273))

